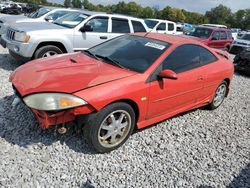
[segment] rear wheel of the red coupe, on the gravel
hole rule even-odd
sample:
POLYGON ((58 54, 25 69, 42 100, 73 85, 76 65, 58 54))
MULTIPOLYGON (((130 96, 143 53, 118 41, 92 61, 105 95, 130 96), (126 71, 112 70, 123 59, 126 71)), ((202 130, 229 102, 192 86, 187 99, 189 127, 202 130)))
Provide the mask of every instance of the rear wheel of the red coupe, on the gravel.
POLYGON ((227 89, 228 89, 227 82, 223 81, 216 89, 213 101, 208 106, 210 110, 218 108, 223 103, 227 94, 227 89))

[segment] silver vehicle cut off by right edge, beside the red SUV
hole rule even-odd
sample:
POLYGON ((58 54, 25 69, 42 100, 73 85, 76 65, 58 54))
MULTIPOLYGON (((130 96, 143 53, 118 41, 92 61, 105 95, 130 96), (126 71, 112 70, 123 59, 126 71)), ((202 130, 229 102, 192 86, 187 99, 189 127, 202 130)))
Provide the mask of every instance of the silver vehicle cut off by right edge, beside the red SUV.
POLYGON ((250 47, 250 32, 245 33, 240 38, 234 40, 229 49, 229 52, 231 54, 238 54, 248 47, 250 47))

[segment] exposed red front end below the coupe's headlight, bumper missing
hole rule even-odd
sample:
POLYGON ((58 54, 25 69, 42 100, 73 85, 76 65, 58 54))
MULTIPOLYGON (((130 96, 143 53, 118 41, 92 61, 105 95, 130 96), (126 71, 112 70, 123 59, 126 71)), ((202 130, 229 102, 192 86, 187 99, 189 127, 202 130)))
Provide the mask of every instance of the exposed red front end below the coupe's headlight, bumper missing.
MULTIPOLYGON (((82 106, 59 112, 46 112, 35 109, 31 110, 34 113, 39 126, 43 129, 47 129, 53 125, 64 125, 65 123, 75 121, 79 115, 90 114, 95 111, 91 106, 82 106)), ((64 132, 63 129, 62 132, 64 132)))

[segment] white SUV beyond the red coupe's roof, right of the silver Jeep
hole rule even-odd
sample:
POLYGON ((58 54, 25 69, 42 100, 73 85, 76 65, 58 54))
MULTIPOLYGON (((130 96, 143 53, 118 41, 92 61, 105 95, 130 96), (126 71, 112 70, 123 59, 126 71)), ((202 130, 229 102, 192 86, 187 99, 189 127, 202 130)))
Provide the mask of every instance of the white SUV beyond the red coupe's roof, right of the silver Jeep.
POLYGON ((150 32, 162 34, 176 34, 176 23, 168 20, 144 19, 150 32))

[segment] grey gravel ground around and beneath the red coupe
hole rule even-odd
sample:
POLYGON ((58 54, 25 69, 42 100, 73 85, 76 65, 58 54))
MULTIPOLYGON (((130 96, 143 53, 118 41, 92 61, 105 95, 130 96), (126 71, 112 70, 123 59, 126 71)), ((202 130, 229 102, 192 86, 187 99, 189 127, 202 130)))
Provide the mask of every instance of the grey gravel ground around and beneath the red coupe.
POLYGON ((185 113, 95 154, 76 131, 55 135, 25 106, 11 108, 17 66, 0 48, 0 187, 250 187, 249 77, 234 76, 217 110, 185 113))

